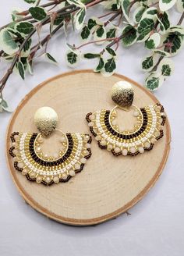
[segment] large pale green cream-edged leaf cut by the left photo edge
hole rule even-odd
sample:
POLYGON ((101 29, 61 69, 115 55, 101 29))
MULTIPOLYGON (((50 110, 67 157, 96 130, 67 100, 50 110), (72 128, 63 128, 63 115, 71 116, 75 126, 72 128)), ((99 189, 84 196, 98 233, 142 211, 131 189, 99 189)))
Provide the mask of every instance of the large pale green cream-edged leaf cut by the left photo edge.
POLYGON ((18 45, 13 40, 11 34, 7 29, 0 31, 0 46, 2 50, 8 55, 12 55, 19 50, 18 45))

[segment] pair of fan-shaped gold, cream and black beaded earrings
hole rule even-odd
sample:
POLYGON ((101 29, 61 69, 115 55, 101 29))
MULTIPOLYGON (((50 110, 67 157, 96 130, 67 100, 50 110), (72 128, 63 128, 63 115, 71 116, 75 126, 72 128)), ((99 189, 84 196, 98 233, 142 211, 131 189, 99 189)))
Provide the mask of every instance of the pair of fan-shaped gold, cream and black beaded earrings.
MULTIPOLYGON (((112 87, 111 98, 115 108, 90 112, 86 119, 90 132, 102 149, 107 149, 115 156, 138 155, 150 151, 157 140, 163 137, 162 126, 165 125, 164 108, 160 104, 138 108, 133 105, 134 92, 131 84, 119 81, 112 87), (133 116, 137 123, 133 130, 119 130, 115 123, 116 108, 129 111, 134 109, 133 116)), ((9 154, 14 160, 14 168, 27 176, 27 180, 51 185, 66 182, 77 172, 83 170, 91 156, 89 134, 63 133, 56 128, 58 115, 54 109, 43 107, 37 109, 34 123, 40 133, 12 133, 12 146, 9 154), (53 131, 60 133, 62 149, 57 154, 44 154, 41 144, 53 131)))

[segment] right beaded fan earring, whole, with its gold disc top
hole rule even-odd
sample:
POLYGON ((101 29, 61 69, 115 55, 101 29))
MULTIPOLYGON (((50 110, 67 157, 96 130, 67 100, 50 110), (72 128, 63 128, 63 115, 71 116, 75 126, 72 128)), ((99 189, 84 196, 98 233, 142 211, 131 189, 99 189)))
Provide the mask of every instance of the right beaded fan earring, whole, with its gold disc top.
POLYGON ((111 99, 115 108, 102 109, 87 114, 90 132, 102 149, 107 149, 115 156, 138 155, 150 151, 154 144, 163 137, 165 125, 164 108, 159 103, 138 108, 133 105, 134 91, 131 84, 119 81, 111 90, 111 99), (120 130, 116 122, 116 108, 124 111, 133 109, 137 122, 133 130, 120 130))

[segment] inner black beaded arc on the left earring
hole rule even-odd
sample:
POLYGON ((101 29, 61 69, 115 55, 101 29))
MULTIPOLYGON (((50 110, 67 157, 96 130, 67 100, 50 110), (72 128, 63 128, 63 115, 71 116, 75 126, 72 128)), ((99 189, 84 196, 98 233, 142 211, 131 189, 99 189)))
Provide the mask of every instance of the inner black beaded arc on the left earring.
POLYGON ((65 162, 65 160, 67 158, 69 158, 69 156, 71 155, 72 151, 73 151, 73 137, 71 136, 71 133, 66 133, 66 137, 68 138, 69 141, 69 148, 67 149, 67 151, 65 152, 65 155, 62 156, 62 158, 59 158, 58 160, 55 161, 44 161, 41 158, 38 158, 35 151, 34 151, 34 140, 37 137, 37 133, 33 133, 33 135, 30 138, 30 155, 31 157, 34 159, 35 162, 39 163, 40 165, 43 166, 56 166, 61 164, 62 162, 65 162))

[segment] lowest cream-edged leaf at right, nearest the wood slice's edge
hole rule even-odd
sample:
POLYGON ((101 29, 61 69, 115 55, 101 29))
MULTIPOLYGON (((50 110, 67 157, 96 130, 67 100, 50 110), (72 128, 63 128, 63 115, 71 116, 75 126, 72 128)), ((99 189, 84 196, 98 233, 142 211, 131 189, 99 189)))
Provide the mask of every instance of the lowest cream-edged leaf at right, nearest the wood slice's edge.
POLYGON ((150 91, 156 91, 164 82, 164 76, 159 73, 151 73, 146 79, 145 87, 150 91))

